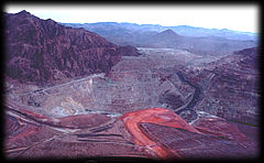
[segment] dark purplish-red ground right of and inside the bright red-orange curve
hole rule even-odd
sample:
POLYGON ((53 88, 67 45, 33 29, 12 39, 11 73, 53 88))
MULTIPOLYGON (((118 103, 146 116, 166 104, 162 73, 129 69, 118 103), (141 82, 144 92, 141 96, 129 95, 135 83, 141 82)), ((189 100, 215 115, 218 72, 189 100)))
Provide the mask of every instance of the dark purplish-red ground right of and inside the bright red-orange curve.
POLYGON ((143 130, 156 142, 176 151, 184 159, 253 159, 257 145, 252 141, 237 141, 200 134, 154 123, 141 123, 143 130))

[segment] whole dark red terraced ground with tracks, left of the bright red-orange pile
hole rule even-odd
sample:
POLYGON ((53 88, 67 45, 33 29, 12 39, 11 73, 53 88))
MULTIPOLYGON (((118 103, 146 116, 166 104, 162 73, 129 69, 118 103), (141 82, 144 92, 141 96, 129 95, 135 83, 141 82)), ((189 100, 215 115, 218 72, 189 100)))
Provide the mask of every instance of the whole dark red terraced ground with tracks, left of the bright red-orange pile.
POLYGON ((4 154, 8 159, 150 156, 146 149, 127 138, 129 133, 122 131, 121 121, 108 123, 111 118, 105 115, 69 116, 46 123, 35 121, 37 117, 30 111, 6 115, 4 154), (101 123, 106 124, 99 126, 101 123))

